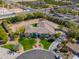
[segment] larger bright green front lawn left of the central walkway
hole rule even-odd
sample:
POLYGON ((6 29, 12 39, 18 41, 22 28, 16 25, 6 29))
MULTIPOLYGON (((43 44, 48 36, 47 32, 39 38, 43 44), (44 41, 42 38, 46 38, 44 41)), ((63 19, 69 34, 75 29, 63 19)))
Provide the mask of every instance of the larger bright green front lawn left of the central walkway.
POLYGON ((19 43, 23 45, 24 50, 32 49, 32 46, 36 43, 32 38, 20 38, 19 43))

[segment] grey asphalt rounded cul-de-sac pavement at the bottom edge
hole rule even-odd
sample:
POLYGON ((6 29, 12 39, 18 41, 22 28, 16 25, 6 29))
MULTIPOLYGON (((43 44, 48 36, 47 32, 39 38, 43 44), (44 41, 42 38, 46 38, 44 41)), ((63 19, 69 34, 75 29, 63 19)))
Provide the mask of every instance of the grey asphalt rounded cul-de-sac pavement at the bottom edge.
POLYGON ((55 55, 44 50, 32 50, 21 54, 16 59, 55 59, 55 55))

